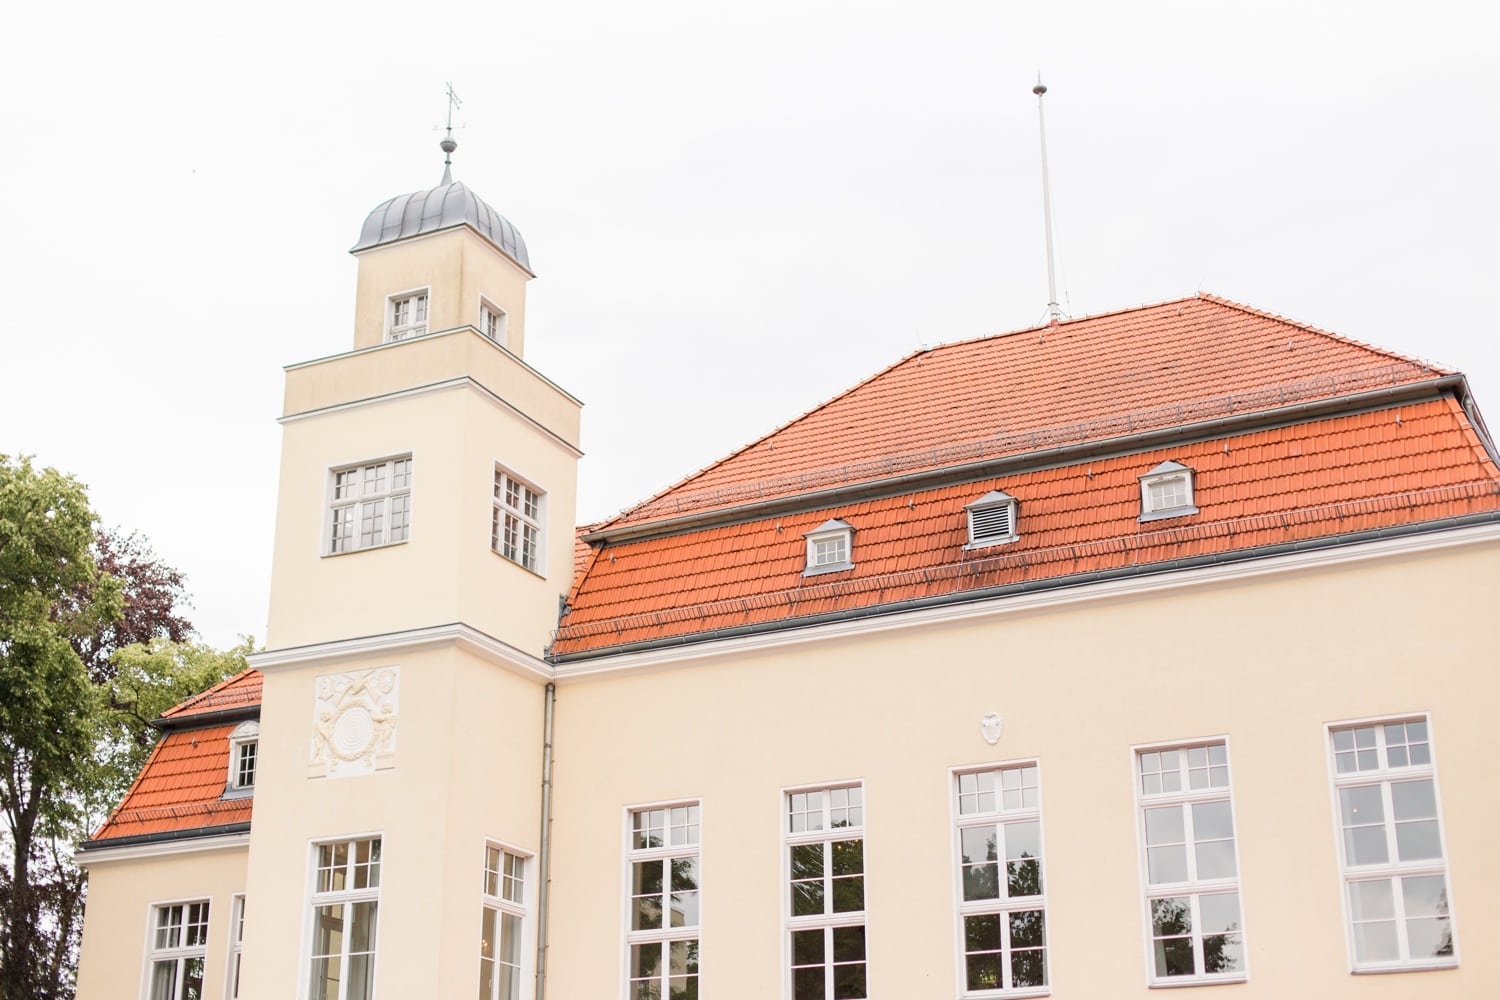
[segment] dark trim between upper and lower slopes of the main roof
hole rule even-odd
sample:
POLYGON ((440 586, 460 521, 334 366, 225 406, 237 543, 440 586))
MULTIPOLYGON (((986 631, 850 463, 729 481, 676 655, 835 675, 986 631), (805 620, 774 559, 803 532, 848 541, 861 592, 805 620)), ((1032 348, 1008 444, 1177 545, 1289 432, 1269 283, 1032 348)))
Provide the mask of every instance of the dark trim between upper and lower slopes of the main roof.
MULTIPOLYGON (((1100 438, 1096 441, 1080 441, 1077 444, 1058 445, 1038 451, 1017 451, 981 459, 963 465, 945 465, 918 472, 908 472, 882 480, 862 480, 846 486, 832 486, 808 493, 794 493, 766 501, 753 501, 734 507, 718 507, 694 514, 664 517, 660 520, 621 525, 590 531, 579 538, 588 544, 597 541, 640 541, 644 538, 660 538, 666 535, 684 534, 702 528, 717 528, 723 525, 759 520, 776 514, 789 514, 806 510, 820 510, 850 499, 870 499, 890 496, 910 489, 933 489, 969 480, 992 478, 1005 472, 1032 471, 1056 465, 1070 465, 1084 459, 1098 459, 1104 454, 1143 451, 1160 448, 1168 444, 1182 444, 1204 438, 1216 438, 1226 433, 1246 433, 1263 430, 1278 424, 1302 423, 1305 420, 1335 417, 1341 414, 1378 409, 1386 405, 1414 402, 1420 399, 1437 399, 1444 391, 1467 393, 1462 375, 1443 375, 1440 378, 1424 379, 1420 382, 1404 382, 1389 388, 1354 393, 1353 396, 1332 396, 1310 403, 1294 403, 1292 406, 1276 406, 1275 409, 1256 409, 1233 417, 1215 417, 1190 424, 1173 424, 1140 430, 1114 438, 1100 438)), ((1480 432, 1480 439, 1484 439, 1480 432)))

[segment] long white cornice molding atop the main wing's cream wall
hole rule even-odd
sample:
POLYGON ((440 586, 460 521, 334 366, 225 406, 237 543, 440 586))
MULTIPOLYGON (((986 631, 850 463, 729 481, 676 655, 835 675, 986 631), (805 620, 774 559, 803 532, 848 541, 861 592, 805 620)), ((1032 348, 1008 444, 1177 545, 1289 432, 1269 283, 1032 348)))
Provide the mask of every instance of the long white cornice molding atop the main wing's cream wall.
POLYGON ((1442 549, 1454 549, 1458 546, 1497 541, 1500 541, 1500 522, 1470 528, 1416 532, 1394 538, 1378 538, 1374 541, 1329 546, 1326 549, 1312 549, 1308 552, 1292 552, 1286 555, 1210 564, 1186 570, 1166 570, 1161 573, 1130 576, 1114 580, 1058 586, 1029 594, 1008 594, 1002 597, 978 598, 974 601, 942 604, 938 607, 908 610, 892 609, 888 613, 882 613, 876 606, 872 609, 861 609, 868 613, 862 616, 852 616, 844 621, 788 627, 748 636, 682 642, 680 645, 657 649, 620 652, 614 655, 604 654, 586 660, 572 660, 560 663, 555 667, 555 676, 558 684, 568 684, 588 681, 590 678, 602 675, 654 672, 688 666, 693 661, 705 661, 744 652, 760 652, 790 645, 819 643, 912 628, 928 628, 939 624, 999 618, 1004 615, 1017 615, 1038 609, 1062 607, 1066 604, 1089 601, 1131 598, 1158 591, 1250 580, 1262 576, 1299 573, 1353 562, 1366 562, 1371 559, 1419 555, 1442 549))

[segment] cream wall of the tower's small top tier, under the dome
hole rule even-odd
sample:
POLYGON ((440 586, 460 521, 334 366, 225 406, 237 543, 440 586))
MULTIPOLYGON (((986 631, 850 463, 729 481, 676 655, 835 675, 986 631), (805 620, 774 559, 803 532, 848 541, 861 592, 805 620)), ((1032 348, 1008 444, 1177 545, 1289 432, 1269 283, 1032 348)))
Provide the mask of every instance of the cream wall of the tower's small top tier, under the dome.
POLYGON ((354 346, 386 339, 386 303, 399 292, 430 288, 428 330, 478 327, 480 295, 508 313, 506 346, 524 354, 526 282, 531 276, 466 226, 388 243, 357 253, 354 346))

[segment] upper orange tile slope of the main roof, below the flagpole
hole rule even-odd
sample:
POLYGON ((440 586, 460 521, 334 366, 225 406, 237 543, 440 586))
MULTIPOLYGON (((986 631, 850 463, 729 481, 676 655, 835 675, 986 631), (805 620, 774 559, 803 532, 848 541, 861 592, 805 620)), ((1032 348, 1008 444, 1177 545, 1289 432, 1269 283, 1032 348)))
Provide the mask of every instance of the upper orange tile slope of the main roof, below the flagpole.
POLYGON ((1449 373, 1197 295, 909 354, 604 528, 1449 373))

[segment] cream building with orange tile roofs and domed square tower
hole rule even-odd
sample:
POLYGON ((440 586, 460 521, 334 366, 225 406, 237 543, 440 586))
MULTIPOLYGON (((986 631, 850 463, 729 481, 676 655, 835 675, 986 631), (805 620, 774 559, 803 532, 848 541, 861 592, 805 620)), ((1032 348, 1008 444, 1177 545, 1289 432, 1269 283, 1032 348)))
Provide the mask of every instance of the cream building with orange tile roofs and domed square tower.
POLYGON ((80 997, 1500 979, 1461 375, 1198 295, 918 351, 574 529, 519 232, 444 177, 354 253, 267 648, 81 847, 80 997))

